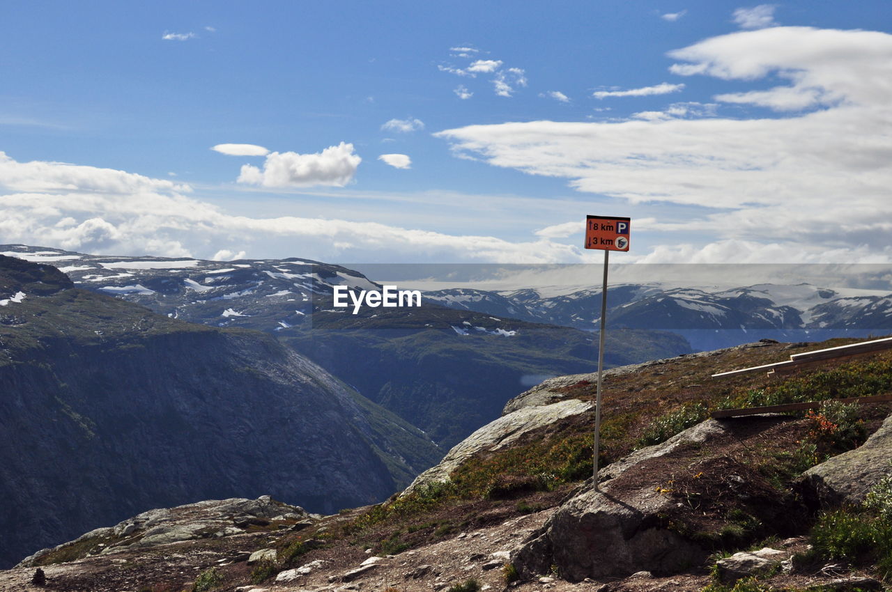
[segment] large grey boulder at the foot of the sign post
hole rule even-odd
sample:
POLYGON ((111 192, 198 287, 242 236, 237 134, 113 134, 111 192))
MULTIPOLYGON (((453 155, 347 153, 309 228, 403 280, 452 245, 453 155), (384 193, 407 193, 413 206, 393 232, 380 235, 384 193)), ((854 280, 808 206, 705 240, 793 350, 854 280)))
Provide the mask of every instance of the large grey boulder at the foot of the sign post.
POLYGON ((709 420, 637 450, 599 475, 599 490, 587 481, 516 549, 512 563, 526 577, 557 565, 561 577, 571 581, 626 577, 637 571, 668 573, 701 563, 708 554, 705 548, 665 528, 661 516, 673 514, 678 502, 655 489, 657 477, 648 467, 683 447, 737 440, 748 429, 761 431, 783 421, 766 416, 709 420))

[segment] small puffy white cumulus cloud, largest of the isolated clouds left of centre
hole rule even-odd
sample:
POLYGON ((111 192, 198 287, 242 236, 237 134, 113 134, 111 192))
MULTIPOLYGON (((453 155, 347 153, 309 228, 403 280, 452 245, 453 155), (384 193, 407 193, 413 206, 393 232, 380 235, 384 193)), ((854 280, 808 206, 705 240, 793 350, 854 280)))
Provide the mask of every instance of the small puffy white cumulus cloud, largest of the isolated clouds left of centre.
POLYGON ((264 187, 343 187, 351 182, 361 161, 353 152, 353 144, 343 142, 314 154, 271 152, 262 170, 246 164, 237 180, 264 187))

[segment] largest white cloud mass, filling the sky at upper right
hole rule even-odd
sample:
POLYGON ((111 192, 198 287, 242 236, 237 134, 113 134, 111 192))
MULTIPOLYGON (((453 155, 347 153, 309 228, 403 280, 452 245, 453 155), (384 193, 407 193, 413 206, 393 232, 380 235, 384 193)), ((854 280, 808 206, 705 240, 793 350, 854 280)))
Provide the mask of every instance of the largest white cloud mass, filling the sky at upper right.
POLYGON ((674 233, 694 250, 724 245, 712 247, 710 257, 730 257, 729 244, 755 243, 778 245, 753 251, 754 258, 778 258, 763 260, 889 259, 892 35, 775 27, 713 37, 670 55, 684 62, 673 66, 676 73, 756 86, 724 101, 823 109, 726 119, 715 117, 710 103, 676 103, 640 115, 647 119, 478 125, 436 136, 458 156, 564 177, 582 192, 702 208, 706 213, 655 231, 674 233), (772 77, 789 86, 759 88, 772 77))

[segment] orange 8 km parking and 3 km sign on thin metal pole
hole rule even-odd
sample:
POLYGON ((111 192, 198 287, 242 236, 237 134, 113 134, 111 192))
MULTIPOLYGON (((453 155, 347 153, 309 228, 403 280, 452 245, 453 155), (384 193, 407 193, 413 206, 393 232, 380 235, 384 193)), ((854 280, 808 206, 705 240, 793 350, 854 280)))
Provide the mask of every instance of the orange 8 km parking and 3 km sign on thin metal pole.
POLYGON ((607 325, 607 263, 610 251, 629 251, 630 218, 589 216, 585 221, 585 248, 604 251, 604 283, 601 286, 601 320, 598 340, 598 385, 595 387, 595 443, 592 478, 598 489, 598 456, 601 443, 601 384, 604 379, 604 337, 607 325))

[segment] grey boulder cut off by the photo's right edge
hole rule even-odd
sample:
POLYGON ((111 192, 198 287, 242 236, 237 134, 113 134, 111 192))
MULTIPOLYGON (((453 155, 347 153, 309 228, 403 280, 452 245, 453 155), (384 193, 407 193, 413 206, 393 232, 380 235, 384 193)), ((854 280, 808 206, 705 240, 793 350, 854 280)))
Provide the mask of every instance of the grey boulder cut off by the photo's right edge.
POLYGON ((822 506, 863 502, 883 475, 892 472, 892 415, 859 448, 833 456, 803 473, 806 491, 822 506))

